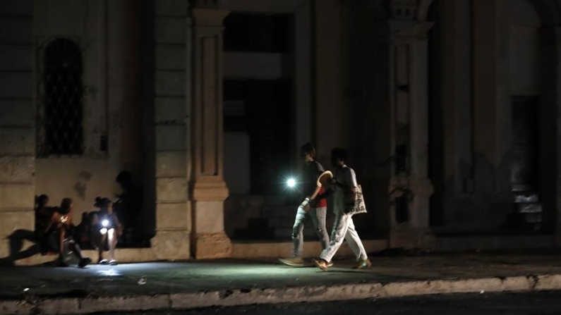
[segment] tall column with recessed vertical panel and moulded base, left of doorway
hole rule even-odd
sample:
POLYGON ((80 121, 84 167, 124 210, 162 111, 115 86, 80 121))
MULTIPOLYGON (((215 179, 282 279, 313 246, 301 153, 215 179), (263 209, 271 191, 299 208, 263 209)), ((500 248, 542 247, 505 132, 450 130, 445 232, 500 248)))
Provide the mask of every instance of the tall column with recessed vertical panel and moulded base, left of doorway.
POLYGON ((199 1, 193 18, 193 207, 192 252, 196 259, 229 257, 231 242, 224 232, 222 20, 229 11, 215 1, 199 1), (203 4, 200 4, 200 3, 203 4), (211 2, 212 4, 207 4, 211 2))

